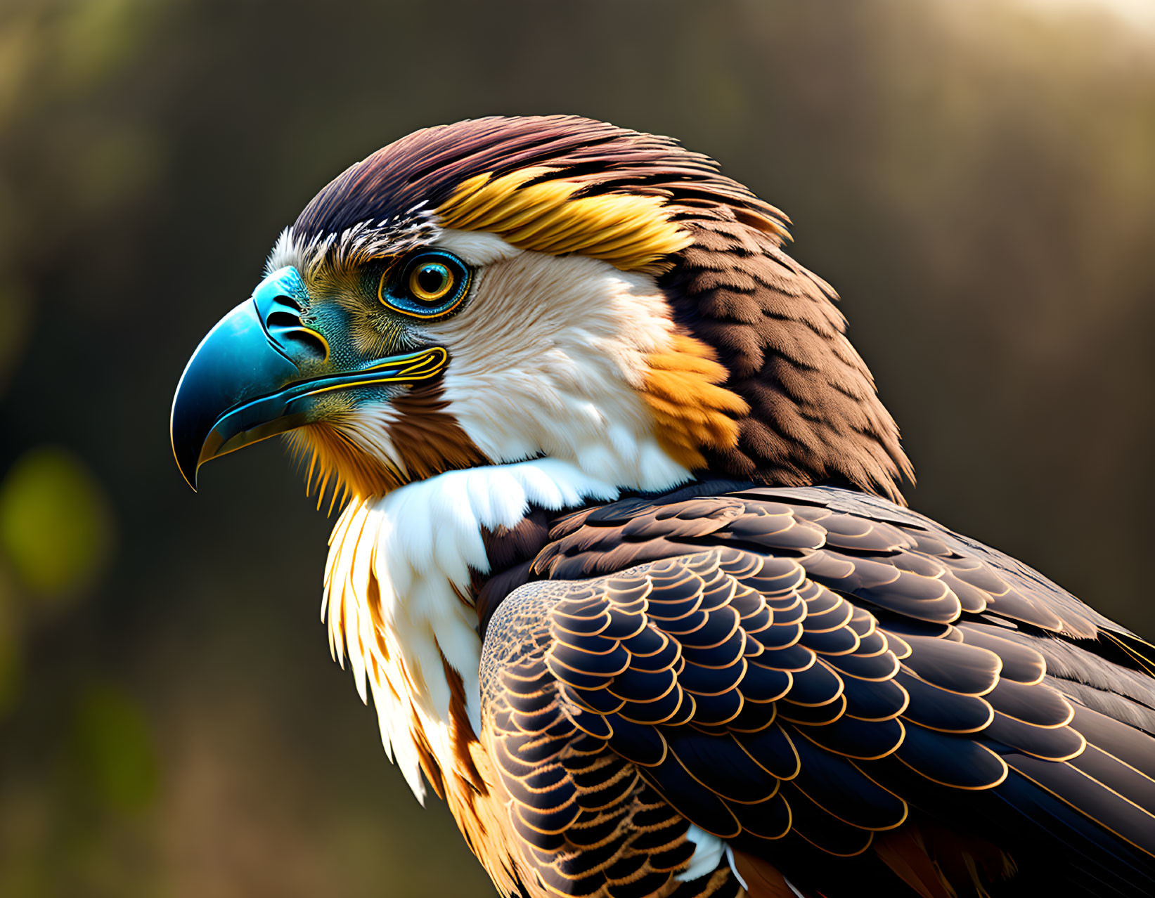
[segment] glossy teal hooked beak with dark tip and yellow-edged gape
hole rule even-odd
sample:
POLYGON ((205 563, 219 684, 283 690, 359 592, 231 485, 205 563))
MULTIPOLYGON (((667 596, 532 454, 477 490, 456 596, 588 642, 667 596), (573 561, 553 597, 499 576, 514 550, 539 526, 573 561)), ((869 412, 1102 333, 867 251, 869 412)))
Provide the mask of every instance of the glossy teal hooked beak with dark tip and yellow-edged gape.
MULTIPOLYGON (((448 353, 440 346, 334 365, 325 330, 300 320, 308 294, 295 268, 274 271, 253 295, 221 319, 185 367, 172 399, 170 433, 180 473, 193 489, 210 458, 320 420, 318 397, 375 383, 433 377, 448 353)), ((320 327, 320 325, 319 325, 320 327)))

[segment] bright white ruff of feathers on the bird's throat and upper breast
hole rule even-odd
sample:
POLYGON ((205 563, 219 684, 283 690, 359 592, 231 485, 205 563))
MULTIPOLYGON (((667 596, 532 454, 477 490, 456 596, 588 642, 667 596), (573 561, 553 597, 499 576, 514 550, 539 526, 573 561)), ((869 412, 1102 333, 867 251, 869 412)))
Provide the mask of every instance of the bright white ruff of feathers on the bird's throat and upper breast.
POLYGON ((372 693, 386 753, 423 803, 416 740, 442 770, 454 761, 446 664, 480 732, 482 643, 464 597, 470 571, 489 573, 482 529, 512 527, 530 504, 557 510, 618 493, 571 462, 538 458, 449 471, 342 511, 321 608, 329 646, 342 666, 348 658, 362 701, 372 693))

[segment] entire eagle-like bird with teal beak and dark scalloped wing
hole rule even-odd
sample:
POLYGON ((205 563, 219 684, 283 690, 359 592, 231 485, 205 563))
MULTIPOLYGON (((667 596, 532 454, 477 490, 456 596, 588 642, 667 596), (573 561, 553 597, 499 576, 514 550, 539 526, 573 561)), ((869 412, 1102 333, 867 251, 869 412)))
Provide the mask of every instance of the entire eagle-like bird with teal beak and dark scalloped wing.
POLYGON ((277 434, 322 619, 504 896, 1155 893, 1155 657, 906 507, 787 217, 579 117, 328 184, 185 368, 177 464, 277 434))

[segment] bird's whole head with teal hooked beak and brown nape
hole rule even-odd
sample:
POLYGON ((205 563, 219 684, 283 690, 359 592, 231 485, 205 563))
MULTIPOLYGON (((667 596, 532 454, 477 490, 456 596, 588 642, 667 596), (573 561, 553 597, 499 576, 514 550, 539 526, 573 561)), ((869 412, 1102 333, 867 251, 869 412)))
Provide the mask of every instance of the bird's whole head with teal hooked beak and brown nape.
POLYGON ((194 482, 293 431, 360 499, 527 458, 629 488, 708 473, 895 497, 895 425, 784 225, 664 137, 569 117, 418 132, 281 235, 189 364, 177 459, 194 482), (783 287, 773 305, 759 284, 783 287))

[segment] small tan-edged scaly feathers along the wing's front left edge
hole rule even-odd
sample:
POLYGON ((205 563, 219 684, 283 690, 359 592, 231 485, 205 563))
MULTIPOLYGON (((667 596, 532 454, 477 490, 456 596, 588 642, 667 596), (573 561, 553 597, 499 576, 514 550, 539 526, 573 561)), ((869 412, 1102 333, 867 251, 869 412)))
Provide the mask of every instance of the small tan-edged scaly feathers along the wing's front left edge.
MULTIPOLYGON (((581 628, 591 620, 581 608, 598 614, 603 593, 569 586, 538 584, 502 608, 482 663, 482 741, 508 795, 526 885, 532 895, 733 898, 738 886, 725 871, 678 882, 694 851, 686 818, 610 747, 604 717, 574 714, 553 673, 564 663, 547 620, 568 608, 567 620, 581 628)), ((609 654, 611 665, 625 658, 613 648, 609 654)))

